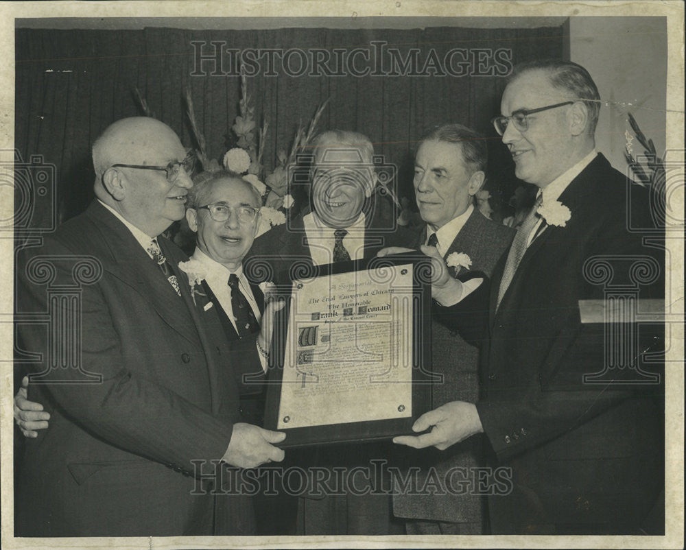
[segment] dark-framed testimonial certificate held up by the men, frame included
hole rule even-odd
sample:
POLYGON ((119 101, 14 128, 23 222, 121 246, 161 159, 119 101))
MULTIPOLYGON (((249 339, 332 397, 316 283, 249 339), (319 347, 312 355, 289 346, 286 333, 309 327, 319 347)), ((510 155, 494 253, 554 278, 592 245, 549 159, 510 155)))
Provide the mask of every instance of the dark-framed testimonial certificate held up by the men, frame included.
POLYGON ((265 427, 280 446, 392 438, 429 409, 431 285, 416 252, 313 267, 276 318, 265 427))

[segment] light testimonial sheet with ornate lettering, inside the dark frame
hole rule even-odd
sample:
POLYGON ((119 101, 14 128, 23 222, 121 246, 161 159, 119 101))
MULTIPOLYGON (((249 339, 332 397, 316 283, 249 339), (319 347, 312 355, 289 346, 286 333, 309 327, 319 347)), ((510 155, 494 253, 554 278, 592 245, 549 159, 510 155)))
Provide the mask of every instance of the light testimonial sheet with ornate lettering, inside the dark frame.
POLYGON ((412 416, 412 264, 294 280, 278 429, 412 416))

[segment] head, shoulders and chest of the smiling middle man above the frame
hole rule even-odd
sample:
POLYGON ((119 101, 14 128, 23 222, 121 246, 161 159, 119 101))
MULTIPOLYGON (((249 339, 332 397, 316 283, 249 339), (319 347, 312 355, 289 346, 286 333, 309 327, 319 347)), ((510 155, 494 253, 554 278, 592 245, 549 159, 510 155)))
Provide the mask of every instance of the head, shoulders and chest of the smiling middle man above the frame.
POLYGON ((409 230, 383 221, 376 208, 374 149, 366 136, 329 130, 311 147, 313 208, 288 227, 277 226, 255 239, 245 261, 248 278, 287 282, 282 276, 289 271, 307 273, 313 265, 372 258, 381 248, 406 246, 412 238, 409 230))

